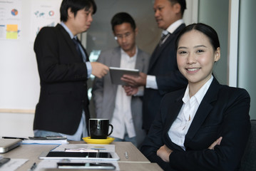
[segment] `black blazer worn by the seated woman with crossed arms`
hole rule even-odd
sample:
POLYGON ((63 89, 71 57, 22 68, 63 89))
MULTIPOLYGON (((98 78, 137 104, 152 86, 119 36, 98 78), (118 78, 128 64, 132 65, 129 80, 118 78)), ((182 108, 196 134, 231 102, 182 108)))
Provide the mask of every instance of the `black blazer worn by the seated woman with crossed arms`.
POLYGON ((250 133, 250 95, 242 88, 220 85, 214 78, 185 135, 185 149, 175 145, 168 130, 183 105, 185 89, 163 98, 141 151, 164 170, 237 170, 250 133), (214 150, 208 147, 222 137, 214 150), (156 151, 167 145, 173 152, 163 162, 156 151))

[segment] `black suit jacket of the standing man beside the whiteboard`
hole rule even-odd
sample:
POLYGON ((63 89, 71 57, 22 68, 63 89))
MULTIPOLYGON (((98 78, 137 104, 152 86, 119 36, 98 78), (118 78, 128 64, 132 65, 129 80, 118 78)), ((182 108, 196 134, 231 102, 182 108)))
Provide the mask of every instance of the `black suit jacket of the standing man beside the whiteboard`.
POLYGON ((34 130, 73 135, 78 129, 83 109, 88 125, 86 63, 60 24, 41 29, 36 36, 34 51, 41 84, 34 130))

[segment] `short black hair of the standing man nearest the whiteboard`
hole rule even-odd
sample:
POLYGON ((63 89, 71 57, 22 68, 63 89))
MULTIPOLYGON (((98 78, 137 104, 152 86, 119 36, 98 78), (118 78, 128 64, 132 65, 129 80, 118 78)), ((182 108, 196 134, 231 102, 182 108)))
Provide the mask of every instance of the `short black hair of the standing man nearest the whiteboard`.
POLYGON ((81 9, 86 9, 88 11, 93 7, 93 14, 97 11, 97 6, 94 0, 63 0, 61 3, 61 21, 68 21, 68 9, 71 8, 71 11, 76 16, 77 11, 81 9))

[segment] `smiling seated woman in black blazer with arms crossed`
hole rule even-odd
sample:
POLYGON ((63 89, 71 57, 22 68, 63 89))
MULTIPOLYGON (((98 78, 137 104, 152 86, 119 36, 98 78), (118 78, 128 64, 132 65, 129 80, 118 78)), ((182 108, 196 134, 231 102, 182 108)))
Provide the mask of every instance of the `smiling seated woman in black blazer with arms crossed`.
POLYGON ((212 75, 220 43, 210 26, 186 26, 176 49, 188 86, 163 97, 141 151, 164 170, 238 170, 250 133, 250 95, 212 75))

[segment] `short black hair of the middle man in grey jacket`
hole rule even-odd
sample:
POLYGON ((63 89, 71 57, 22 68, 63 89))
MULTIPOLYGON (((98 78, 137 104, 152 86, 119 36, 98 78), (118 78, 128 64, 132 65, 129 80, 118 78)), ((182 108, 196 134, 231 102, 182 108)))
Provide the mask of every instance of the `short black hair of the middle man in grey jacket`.
POLYGON ((136 28, 136 24, 135 21, 133 20, 133 17, 131 17, 130 14, 126 12, 121 12, 113 16, 113 18, 111 19, 112 31, 115 31, 114 28, 116 25, 123 23, 129 23, 133 30, 135 30, 136 28))

